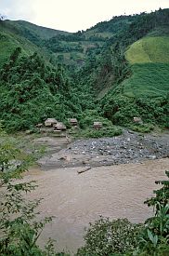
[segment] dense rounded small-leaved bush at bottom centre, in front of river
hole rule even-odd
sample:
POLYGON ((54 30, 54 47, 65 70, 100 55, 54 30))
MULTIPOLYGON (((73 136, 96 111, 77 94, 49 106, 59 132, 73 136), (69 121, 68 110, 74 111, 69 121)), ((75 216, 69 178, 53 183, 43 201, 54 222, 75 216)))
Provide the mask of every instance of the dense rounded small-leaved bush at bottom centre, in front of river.
POLYGON ((137 234, 140 225, 133 224, 127 219, 110 221, 100 218, 90 227, 84 236, 85 245, 79 249, 77 256, 102 256, 125 253, 136 248, 137 234))

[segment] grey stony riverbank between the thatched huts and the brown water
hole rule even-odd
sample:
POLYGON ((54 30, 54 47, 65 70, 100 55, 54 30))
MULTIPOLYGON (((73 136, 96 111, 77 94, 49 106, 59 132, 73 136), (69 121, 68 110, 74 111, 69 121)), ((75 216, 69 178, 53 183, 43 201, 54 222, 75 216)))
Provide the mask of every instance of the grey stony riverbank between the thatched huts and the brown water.
POLYGON ((148 159, 169 156, 169 134, 142 135, 123 130, 123 135, 113 138, 77 140, 67 144, 62 138, 40 138, 38 143, 47 144, 47 154, 39 164, 47 169, 111 166, 141 163, 148 159), (61 149, 62 148, 62 149, 61 149))

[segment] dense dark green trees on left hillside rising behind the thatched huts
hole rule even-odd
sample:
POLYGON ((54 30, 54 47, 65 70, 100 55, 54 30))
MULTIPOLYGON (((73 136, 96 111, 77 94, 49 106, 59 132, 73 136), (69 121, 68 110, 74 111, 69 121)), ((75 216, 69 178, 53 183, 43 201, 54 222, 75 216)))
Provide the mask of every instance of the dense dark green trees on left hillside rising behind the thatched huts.
POLYGON ((36 53, 21 56, 16 48, 0 73, 0 112, 8 130, 33 128, 48 116, 71 117, 71 82, 61 66, 52 68, 36 53))

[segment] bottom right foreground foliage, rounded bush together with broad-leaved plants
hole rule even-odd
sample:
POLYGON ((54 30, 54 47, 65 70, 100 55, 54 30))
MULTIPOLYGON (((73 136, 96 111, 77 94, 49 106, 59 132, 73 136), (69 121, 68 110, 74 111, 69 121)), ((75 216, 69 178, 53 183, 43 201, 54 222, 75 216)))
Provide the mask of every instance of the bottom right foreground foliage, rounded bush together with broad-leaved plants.
MULTIPOLYGON (((169 172, 166 171, 169 178, 169 172)), ((169 181, 155 196, 146 201, 155 209, 155 215, 144 224, 133 224, 126 219, 110 221, 101 218, 87 230, 84 247, 78 256, 102 255, 152 255, 169 254, 169 181)))

